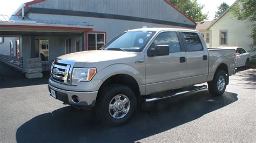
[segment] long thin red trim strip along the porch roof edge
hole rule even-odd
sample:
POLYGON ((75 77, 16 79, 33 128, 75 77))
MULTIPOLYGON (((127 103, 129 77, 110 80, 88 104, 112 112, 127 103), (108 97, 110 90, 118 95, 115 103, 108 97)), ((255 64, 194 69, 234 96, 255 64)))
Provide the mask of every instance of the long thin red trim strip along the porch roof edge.
POLYGON ((92 28, 55 27, 55 26, 28 26, 28 25, 0 25, 0 27, 15 27, 15 28, 43 28, 43 29, 83 30, 83 31, 91 31, 91 30, 93 30, 92 28))

